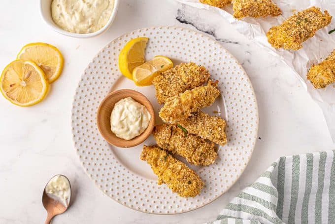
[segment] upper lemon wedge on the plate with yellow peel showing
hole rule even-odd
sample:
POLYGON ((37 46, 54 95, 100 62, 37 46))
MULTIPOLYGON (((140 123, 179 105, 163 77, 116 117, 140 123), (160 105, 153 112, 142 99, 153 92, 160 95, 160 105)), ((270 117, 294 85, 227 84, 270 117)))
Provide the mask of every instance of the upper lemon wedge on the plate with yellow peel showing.
POLYGON ((148 37, 137 37, 126 43, 119 54, 120 72, 127 78, 133 79, 132 72, 135 67, 145 61, 145 47, 148 37))

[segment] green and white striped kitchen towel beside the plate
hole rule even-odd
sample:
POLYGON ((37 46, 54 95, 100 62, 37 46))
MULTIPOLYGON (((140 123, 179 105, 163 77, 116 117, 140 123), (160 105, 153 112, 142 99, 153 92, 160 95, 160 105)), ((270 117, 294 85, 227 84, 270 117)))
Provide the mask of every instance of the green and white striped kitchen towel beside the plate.
POLYGON ((334 152, 280 157, 210 224, 335 224, 334 152))

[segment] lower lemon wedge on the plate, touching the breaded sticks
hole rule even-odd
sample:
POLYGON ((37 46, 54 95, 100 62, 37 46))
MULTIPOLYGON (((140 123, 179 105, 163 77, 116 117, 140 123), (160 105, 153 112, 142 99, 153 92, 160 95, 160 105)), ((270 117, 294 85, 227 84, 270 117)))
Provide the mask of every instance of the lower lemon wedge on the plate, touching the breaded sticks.
POLYGON ((165 56, 155 56, 153 59, 137 66, 133 71, 133 80, 138 86, 151 85, 154 77, 173 67, 172 61, 165 56))

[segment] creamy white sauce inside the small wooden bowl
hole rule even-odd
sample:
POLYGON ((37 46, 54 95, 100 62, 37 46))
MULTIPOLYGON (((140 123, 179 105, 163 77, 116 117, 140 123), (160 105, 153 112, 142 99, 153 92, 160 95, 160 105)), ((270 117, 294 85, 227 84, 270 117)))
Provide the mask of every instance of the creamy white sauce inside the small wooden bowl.
POLYGON ((145 131, 150 118, 143 105, 127 97, 115 103, 110 115, 110 129, 117 137, 130 140, 145 131))

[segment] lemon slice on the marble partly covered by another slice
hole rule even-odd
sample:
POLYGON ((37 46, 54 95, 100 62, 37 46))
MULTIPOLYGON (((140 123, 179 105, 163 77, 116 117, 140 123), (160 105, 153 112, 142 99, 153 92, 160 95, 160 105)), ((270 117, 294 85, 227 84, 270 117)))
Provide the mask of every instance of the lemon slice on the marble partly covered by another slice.
POLYGON ((40 42, 25 45, 17 59, 33 61, 43 70, 49 83, 61 75, 64 63, 63 56, 56 47, 40 42))

